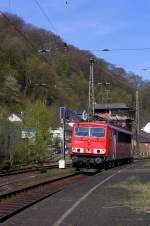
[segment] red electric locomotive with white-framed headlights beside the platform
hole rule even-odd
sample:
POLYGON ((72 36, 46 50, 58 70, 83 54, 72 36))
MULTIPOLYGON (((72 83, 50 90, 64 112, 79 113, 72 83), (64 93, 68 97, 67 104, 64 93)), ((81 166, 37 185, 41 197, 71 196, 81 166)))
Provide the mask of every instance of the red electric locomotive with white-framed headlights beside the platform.
POLYGON ((102 122, 75 123, 71 157, 78 169, 100 169, 131 162, 131 132, 102 122))

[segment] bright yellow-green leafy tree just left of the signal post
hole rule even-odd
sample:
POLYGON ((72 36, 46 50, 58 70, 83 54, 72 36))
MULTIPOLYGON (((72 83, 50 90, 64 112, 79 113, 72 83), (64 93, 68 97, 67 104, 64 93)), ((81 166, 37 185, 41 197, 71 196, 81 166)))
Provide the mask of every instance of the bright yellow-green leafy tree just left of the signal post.
POLYGON ((44 159, 47 154, 47 145, 50 142, 50 135, 48 129, 50 127, 49 112, 45 105, 41 101, 35 103, 29 103, 24 113, 24 126, 34 128, 36 130, 35 141, 31 143, 28 139, 28 143, 25 144, 30 150, 28 156, 31 161, 40 161, 44 159))

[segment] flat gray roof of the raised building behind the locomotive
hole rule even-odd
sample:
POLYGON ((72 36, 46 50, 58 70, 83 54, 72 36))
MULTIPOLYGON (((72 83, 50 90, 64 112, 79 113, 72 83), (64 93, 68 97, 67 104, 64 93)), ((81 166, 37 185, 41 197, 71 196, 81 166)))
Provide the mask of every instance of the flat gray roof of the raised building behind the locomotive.
POLYGON ((95 109, 129 109, 125 103, 104 103, 104 104, 95 104, 95 109))

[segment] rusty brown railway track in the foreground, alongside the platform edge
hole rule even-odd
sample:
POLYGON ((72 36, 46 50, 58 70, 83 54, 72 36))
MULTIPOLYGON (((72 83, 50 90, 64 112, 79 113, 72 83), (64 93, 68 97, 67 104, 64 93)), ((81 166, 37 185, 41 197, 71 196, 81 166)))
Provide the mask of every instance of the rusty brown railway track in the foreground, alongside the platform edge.
POLYGON ((28 208, 29 206, 62 190, 67 185, 85 178, 85 175, 74 173, 50 182, 44 182, 9 194, 1 195, 0 222, 28 208))

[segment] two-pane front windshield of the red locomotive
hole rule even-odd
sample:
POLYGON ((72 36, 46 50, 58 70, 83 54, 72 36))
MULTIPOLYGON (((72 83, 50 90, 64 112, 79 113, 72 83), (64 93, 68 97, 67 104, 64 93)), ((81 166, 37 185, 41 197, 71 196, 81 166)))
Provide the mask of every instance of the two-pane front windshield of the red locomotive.
POLYGON ((79 137, 105 137, 104 128, 78 127, 75 128, 75 135, 79 137))

